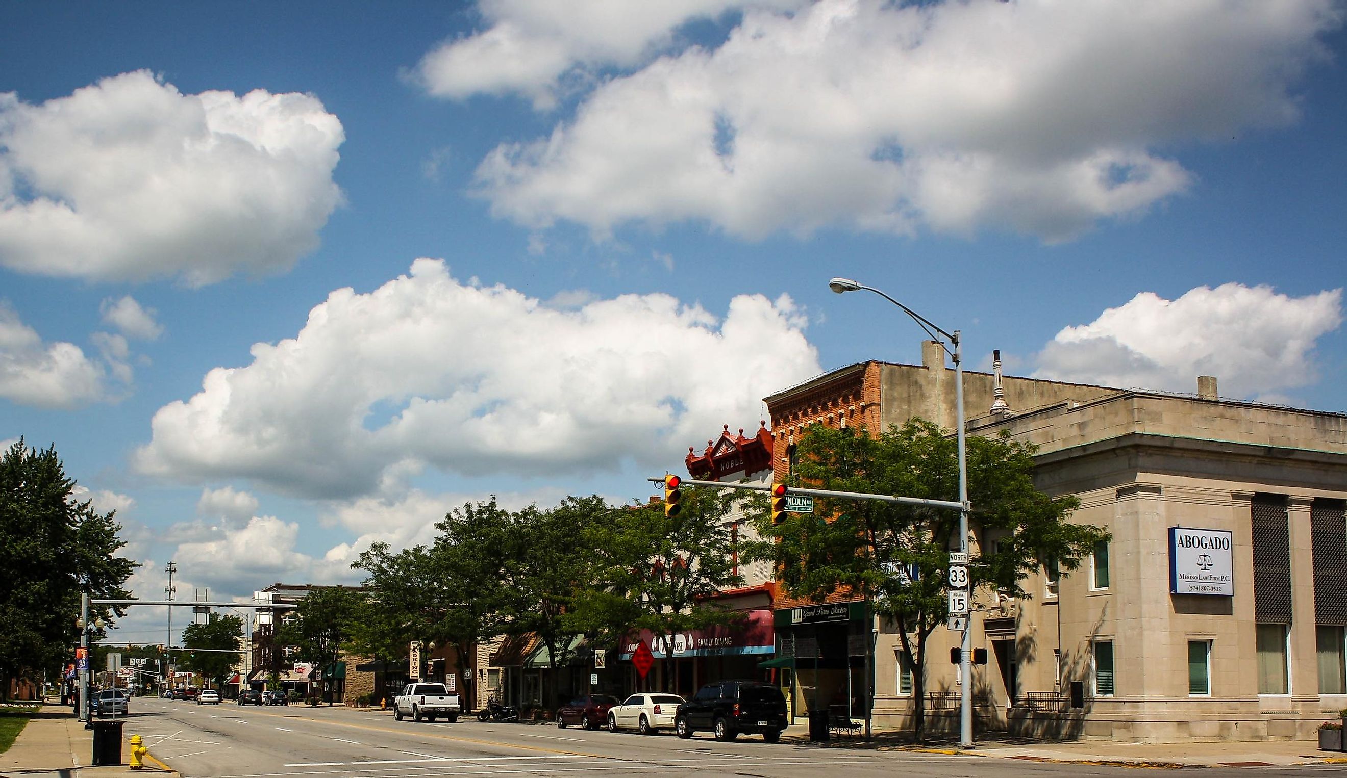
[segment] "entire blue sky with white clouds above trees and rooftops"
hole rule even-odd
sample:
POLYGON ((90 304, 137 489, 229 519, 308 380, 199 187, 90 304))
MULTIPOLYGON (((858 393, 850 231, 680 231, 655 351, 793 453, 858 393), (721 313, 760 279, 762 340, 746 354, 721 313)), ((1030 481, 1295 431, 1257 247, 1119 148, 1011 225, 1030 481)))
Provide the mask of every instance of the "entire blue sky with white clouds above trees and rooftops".
MULTIPOLYGON (((971 369, 1344 412, 1342 3, 0 5, 0 440, 155 598, 971 369)), ((124 639, 162 639, 163 611, 124 639)))

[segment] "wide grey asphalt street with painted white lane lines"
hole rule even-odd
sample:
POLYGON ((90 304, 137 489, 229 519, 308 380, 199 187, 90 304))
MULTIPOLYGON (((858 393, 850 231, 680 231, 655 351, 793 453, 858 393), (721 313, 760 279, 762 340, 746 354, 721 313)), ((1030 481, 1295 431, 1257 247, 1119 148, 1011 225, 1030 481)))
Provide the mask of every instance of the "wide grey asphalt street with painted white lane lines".
MULTIPOLYGON (((535 724, 484 724, 461 719, 395 721, 392 715, 348 708, 198 705, 140 699, 124 734, 140 735, 150 752, 187 778, 353 775, 742 775, 761 778, 880 778, 893 775, 1129 775, 1136 770, 1045 765, 997 758, 872 751, 709 734, 680 740, 559 730, 535 724)), ((1276 774, 1338 774, 1335 767, 1280 767, 1276 774)), ((1203 770, 1207 778, 1269 774, 1259 769, 1203 770)))

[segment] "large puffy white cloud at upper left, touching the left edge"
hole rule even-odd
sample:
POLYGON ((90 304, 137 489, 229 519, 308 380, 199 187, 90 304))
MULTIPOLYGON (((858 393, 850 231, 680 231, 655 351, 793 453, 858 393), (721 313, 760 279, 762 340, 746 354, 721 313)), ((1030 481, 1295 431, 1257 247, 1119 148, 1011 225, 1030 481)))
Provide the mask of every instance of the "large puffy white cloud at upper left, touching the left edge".
POLYGON ((40 105, 0 93, 0 265, 203 285, 290 268, 341 202, 310 94, 182 94, 148 71, 40 105))

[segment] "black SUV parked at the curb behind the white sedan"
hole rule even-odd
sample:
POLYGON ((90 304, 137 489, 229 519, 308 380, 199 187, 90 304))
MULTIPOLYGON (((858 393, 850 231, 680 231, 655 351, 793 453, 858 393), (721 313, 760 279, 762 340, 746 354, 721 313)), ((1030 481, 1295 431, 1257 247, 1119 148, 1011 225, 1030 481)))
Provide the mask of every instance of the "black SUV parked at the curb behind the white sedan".
POLYGON ((674 730, 679 738, 713 731, 717 740, 733 740, 740 732, 760 734, 768 743, 785 730, 785 695, 761 681, 717 681, 678 707, 674 730))

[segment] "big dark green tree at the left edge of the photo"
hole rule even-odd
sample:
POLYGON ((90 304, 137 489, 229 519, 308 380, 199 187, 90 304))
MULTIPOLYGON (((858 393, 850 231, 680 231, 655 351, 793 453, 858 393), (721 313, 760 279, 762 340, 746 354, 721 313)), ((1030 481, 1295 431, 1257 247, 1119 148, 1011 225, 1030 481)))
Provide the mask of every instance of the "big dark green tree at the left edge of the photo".
MULTIPOLYGON (((117 556, 125 542, 114 511, 101 514, 74 495, 55 447, 23 439, 0 454, 0 696, 9 678, 47 670, 55 677, 79 642, 79 594, 128 599, 123 584, 139 567, 117 556)), ((93 608, 112 622, 121 608, 93 608)), ((94 635, 97 638, 100 635, 94 635)))

